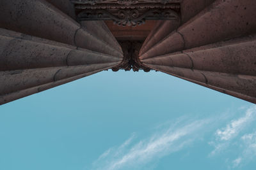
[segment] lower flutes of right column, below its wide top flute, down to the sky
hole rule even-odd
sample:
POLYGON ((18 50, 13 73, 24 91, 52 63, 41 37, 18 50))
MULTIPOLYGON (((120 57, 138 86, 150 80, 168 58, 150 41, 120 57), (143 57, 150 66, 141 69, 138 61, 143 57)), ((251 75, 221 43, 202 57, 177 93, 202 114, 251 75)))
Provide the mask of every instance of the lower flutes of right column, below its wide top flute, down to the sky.
POLYGON ((142 60, 146 66, 256 103, 256 36, 142 60))

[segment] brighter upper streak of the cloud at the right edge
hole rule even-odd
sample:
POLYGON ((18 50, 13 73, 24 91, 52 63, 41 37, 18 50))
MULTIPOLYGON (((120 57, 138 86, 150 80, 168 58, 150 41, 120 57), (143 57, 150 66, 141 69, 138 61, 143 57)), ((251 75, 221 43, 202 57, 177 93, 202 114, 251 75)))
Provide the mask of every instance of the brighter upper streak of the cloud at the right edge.
POLYGON ((210 153, 210 156, 215 155, 230 146, 230 142, 237 138, 239 134, 243 134, 243 130, 248 127, 256 118, 256 106, 252 106, 246 110, 243 117, 230 121, 226 127, 218 129, 214 136, 215 140, 209 144, 214 146, 214 150, 210 153))

